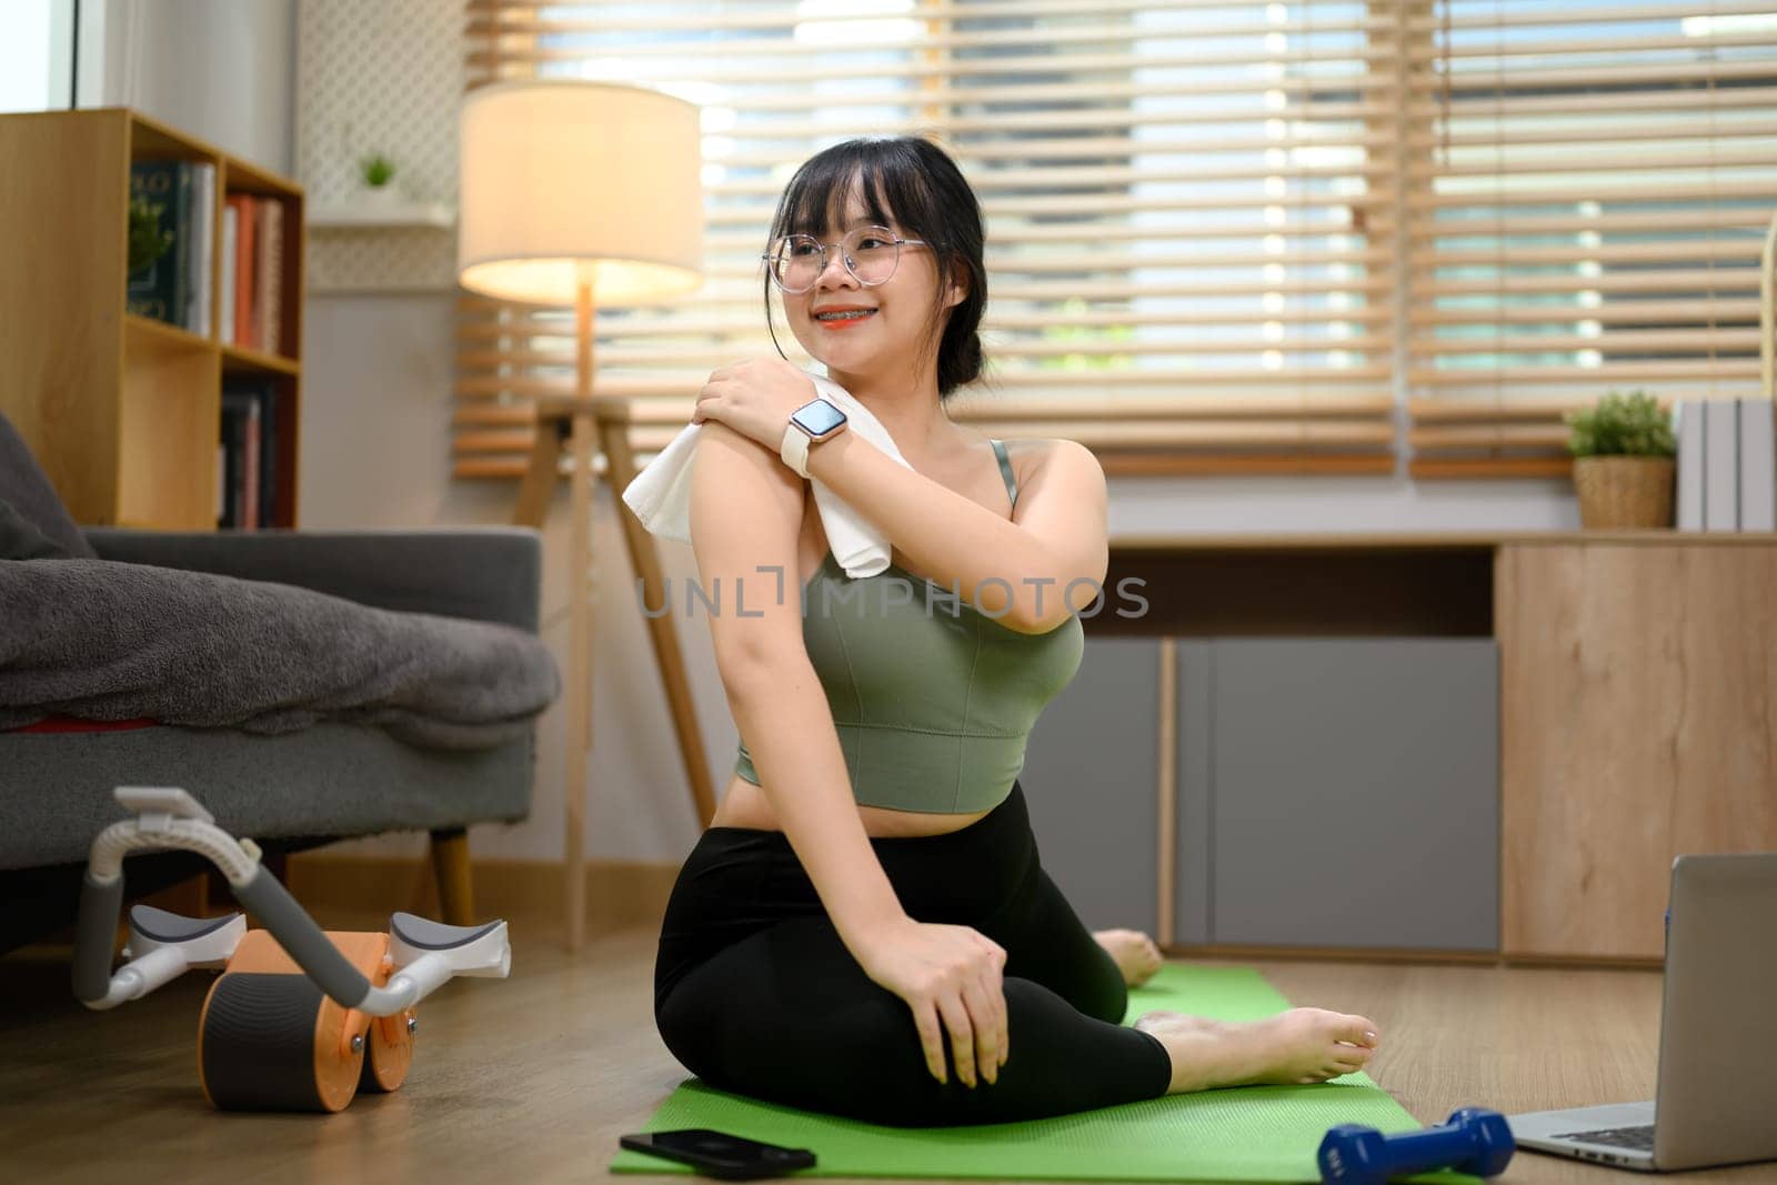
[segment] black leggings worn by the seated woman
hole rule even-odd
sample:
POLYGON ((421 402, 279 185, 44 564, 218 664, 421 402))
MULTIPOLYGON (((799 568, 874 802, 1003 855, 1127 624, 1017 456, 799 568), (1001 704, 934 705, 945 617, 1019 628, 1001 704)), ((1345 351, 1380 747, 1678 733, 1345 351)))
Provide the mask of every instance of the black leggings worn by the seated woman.
MULTIPOLYGON (((919 922, 1006 949, 999 1082, 940 1084, 913 1013, 846 950, 782 831, 709 828, 679 872, 654 965, 666 1048, 709 1086, 897 1126, 1013 1123, 1157 1098, 1166 1048, 1120 1025, 1128 990, 1043 872, 1024 791, 961 831, 873 839, 919 922)), ((949 1030, 945 1030, 949 1061, 949 1030)))

